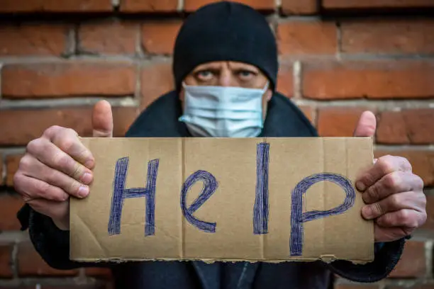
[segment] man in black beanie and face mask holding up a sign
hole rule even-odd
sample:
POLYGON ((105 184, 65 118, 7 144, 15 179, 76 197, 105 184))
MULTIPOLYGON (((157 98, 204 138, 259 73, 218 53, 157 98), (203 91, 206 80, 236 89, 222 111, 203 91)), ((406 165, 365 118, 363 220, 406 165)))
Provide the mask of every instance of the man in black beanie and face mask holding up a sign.
MULTIPOLYGON (((316 137, 316 130, 276 91, 277 47, 260 13, 218 2, 185 21, 174 47, 176 91, 152 103, 126 137, 316 137)), ((94 137, 111 137, 109 103, 96 104, 94 137)), ((374 135, 376 120, 363 113, 355 136, 374 135)), ((421 178, 401 157, 382 157, 356 186, 375 220, 375 259, 348 261, 212 263, 145 261, 77 263, 69 260, 68 198, 85 198, 94 159, 72 129, 52 127, 28 144, 14 181, 27 205, 18 214, 43 259, 60 269, 109 266, 118 288, 327 288, 331 272, 372 282, 384 278, 401 256, 406 237, 425 222, 421 178)))

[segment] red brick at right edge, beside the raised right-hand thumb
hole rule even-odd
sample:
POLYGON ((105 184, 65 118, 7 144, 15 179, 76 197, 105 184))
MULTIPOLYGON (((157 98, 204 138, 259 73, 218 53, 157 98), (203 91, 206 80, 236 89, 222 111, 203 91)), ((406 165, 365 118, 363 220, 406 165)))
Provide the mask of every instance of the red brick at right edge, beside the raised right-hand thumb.
POLYGON ((377 142, 383 144, 434 144, 434 109, 384 111, 379 115, 377 142))

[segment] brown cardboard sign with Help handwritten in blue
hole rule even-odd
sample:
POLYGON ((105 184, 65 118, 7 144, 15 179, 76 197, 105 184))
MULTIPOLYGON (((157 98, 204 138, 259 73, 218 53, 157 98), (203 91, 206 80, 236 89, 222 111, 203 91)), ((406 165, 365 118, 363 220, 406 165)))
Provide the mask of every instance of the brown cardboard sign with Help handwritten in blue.
POLYGON ((86 138, 88 198, 70 203, 70 258, 374 258, 356 176, 370 138, 86 138))

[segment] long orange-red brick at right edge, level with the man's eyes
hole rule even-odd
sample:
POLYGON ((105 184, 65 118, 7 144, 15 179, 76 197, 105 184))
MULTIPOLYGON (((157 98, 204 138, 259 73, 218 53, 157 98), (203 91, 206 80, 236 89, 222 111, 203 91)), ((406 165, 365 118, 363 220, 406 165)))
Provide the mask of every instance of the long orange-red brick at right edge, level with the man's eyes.
POLYGON ((303 67, 306 98, 431 98, 434 62, 311 62, 303 67))

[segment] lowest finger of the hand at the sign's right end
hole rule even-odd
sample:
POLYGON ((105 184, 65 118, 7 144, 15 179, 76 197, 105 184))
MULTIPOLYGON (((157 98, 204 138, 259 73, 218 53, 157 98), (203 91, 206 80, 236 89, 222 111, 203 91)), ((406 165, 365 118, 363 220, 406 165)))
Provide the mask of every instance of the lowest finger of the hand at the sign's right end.
POLYGON ((421 227, 425 221, 426 212, 404 209, 382 215, 377 219, 377 224, 381 227, 406 227, 416 229, 417 227, 421 227))

